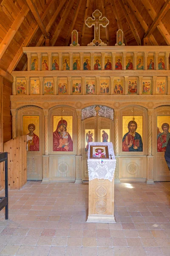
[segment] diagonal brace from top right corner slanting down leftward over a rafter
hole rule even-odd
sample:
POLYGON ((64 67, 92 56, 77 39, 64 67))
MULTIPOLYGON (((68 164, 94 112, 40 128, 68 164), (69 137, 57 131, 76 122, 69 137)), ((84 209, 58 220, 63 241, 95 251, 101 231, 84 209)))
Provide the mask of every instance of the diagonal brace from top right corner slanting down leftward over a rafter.
POLYGON ((156 15, 155 19, 153 20, 153 23, 147 30, 146 34, 144 35, 144 38, 150 37, 150 35, 153 33, 153 31, 156 29, 156 27, 159 25, 160 20, 164 17, 164 15, 167 13, 167 11, 170 9, 170 0, 168 0, 163 8, 160 10, 159 14, 156 15))

